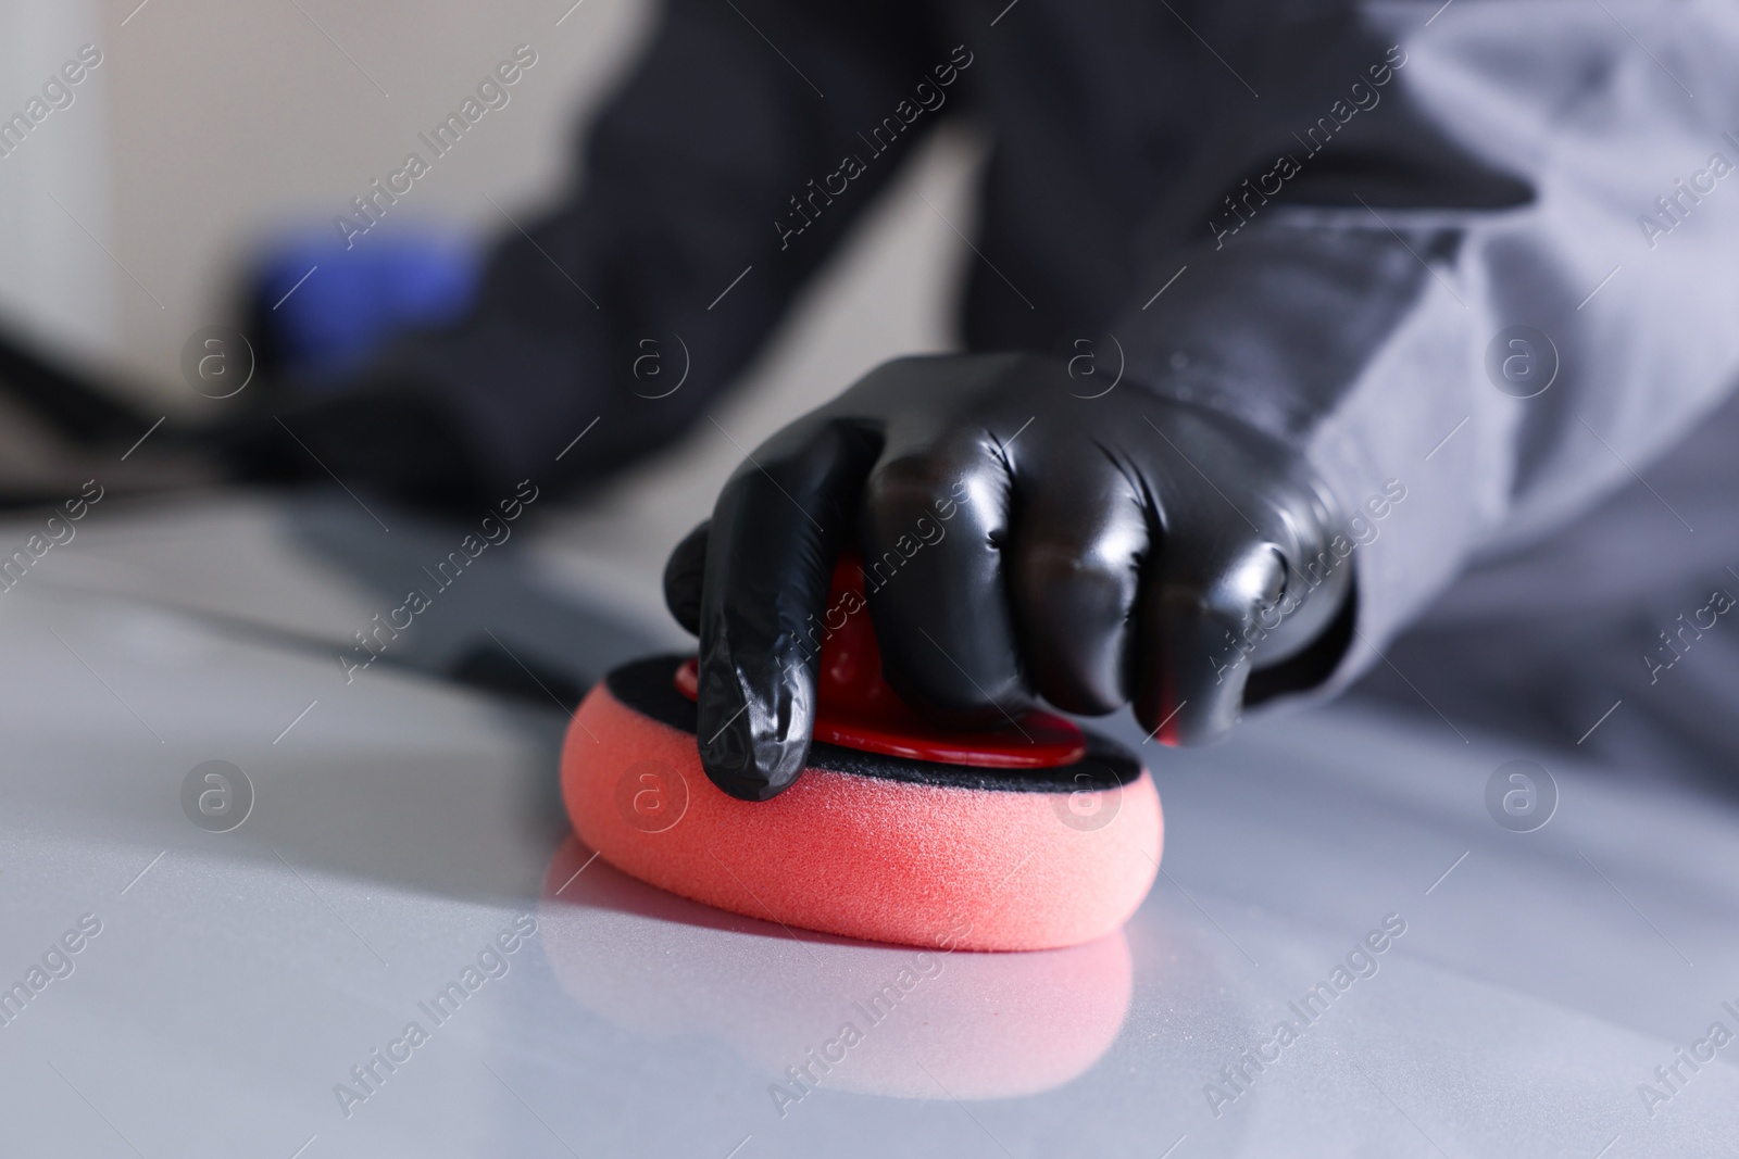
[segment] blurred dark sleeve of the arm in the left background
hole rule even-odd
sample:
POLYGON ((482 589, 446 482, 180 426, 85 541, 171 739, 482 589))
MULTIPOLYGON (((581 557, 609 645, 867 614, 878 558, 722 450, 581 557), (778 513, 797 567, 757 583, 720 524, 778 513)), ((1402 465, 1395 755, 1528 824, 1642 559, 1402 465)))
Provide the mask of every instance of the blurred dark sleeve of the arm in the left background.
POLYGON ((579 195, 520 217, 470 315, 369 379, 431 391, 492 478, 574 483, 647 454, 704 414, 936 120, 859 137, 915 109, 939 61, 918 3, 670 0, 590 129, 579 195), (847 156, 873 163, 842 176, 847 156))

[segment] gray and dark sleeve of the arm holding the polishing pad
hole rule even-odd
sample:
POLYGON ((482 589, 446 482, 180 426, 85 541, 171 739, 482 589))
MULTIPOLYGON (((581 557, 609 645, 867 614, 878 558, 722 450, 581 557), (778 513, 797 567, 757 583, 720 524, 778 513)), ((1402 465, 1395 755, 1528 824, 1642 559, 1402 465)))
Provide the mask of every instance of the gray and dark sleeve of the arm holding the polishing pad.
POLYGON ((1348 9, 1243 30, 1261 92, 1144 238, 1148 287, 1183 273, 1113 327, 1130 377, 1294 441, 1356 513, 1322 690, 1739 372, 1739 10, 1348 9))

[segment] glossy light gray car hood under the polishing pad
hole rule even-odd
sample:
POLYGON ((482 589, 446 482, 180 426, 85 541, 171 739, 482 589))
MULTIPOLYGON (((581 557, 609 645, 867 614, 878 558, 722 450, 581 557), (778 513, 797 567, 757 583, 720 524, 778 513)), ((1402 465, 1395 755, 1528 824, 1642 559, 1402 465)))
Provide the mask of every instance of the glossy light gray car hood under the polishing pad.
POLYGON ((532 547, 346 685, 332 652, 449 530, 322 502, 104 514, 0 594, 0 985, 101 923, 0 1025, 7 1156, 1730 1152, 1739 1046, 1678 1055, 1739 1032, 1730 801, 1435 718, 1261 721, 1141 749, 1165 872, 1120 937, 920 963, 588 860, 563 716, 414 671, 483 629, 576 676, 668 646, 537 579, 532 547), (1560 792, 1525 834, 1485 805, 1518 758, 1560 792), (231 832, 183 810, 214 759, 256 794, 231 832), (1386 917, 1405 933, 1336 990, 1386 917), (1264 1044, 1282 1018, 1303 1030, 1264 1044), (847 1022, 861 1041, 798 1084, 847 1022))

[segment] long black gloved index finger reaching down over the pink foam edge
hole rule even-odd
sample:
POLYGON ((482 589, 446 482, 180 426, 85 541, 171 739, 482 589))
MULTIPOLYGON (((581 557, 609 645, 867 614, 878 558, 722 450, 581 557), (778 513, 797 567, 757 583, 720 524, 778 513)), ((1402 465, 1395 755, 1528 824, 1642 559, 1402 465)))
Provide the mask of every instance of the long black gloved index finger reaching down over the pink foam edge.
POLYGON ((803 772, 819 624, 880 438, 819 419, 763 443, 713 507, 701 587, 701 766, 765 801, 803 772))

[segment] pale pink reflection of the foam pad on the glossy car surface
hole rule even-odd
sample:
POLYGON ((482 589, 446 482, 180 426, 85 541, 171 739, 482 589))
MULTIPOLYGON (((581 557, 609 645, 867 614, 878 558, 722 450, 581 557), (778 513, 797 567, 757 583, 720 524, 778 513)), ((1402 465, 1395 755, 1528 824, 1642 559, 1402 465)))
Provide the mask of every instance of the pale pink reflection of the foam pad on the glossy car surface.
POLYGON ((640 1037, 729 1044, 779 1084, 779 1095, 767 1091, 776 1107, 803 1095, 793 1063, 810 1065, 807 1081, 823 1091, 1036 1095, 1097 1063, 1129 1013, 1122 931, 1036 954, 944 954, 826 935, 798 935, 796 950, 779 926, 671 897, 590 865, 591 857, 569 838, 544 878, 537 942, 562 989, 640 1037), (830 1050, 843 1022, 864 1037, 830 1050))

